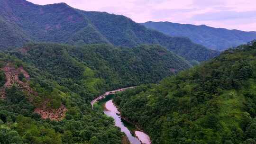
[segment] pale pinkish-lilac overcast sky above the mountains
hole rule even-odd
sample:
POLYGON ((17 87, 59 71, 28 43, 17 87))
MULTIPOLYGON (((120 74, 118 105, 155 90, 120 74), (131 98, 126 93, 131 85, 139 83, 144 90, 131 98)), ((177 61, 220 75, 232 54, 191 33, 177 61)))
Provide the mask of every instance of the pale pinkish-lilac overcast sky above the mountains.
POLYGON ((136 22, 170 21, 256 31, 256 0, 28 0, 65 2, 86 11, 125 15, 136 22))

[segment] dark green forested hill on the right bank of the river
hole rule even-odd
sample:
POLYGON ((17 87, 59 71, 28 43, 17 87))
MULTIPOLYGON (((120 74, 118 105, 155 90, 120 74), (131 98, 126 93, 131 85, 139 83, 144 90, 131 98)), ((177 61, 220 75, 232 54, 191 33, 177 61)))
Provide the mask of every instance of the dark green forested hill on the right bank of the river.
POLYGON ((153 144, 256 144, 256 42, 114 101, 153 144))

